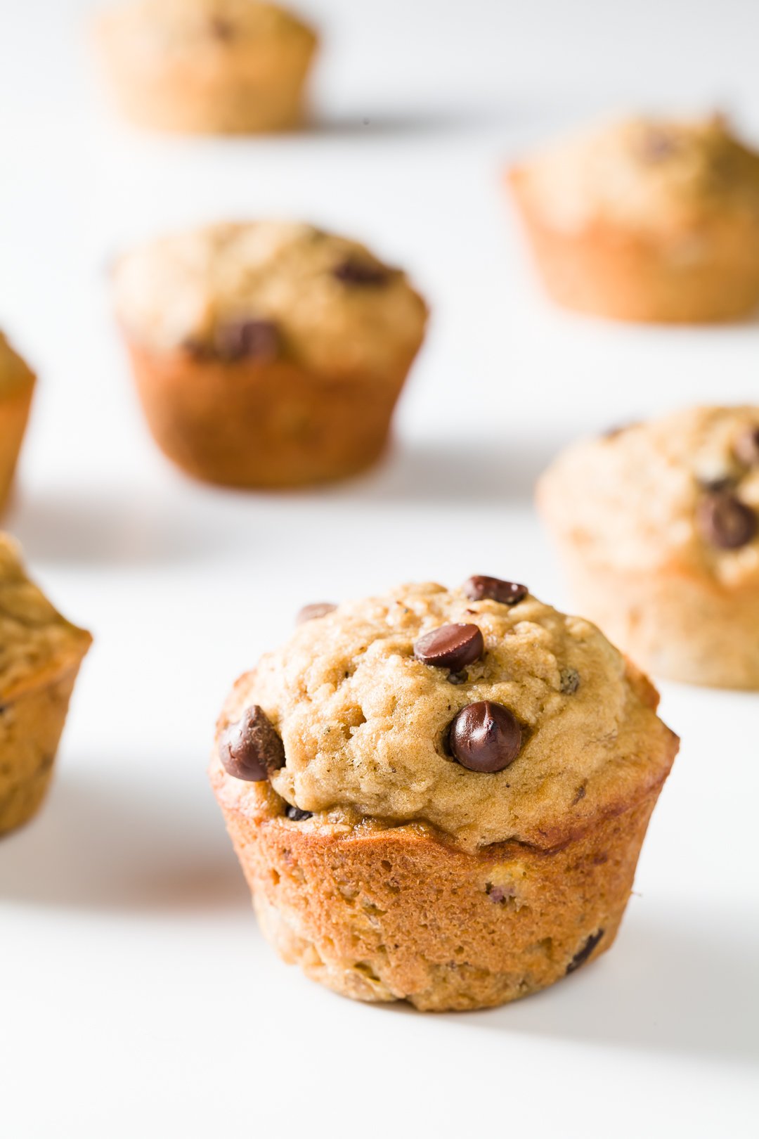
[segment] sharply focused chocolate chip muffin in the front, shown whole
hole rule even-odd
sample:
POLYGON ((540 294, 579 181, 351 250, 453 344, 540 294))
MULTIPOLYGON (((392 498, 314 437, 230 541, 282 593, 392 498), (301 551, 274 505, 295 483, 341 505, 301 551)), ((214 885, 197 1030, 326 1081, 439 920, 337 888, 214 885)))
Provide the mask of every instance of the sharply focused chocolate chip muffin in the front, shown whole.
POLYGON ((236 683, 211 764, 265 935, 336 992, 420 1009, 572 973, 617 935, 677 751, 657 703, 513 582, 303 614, 236 683))

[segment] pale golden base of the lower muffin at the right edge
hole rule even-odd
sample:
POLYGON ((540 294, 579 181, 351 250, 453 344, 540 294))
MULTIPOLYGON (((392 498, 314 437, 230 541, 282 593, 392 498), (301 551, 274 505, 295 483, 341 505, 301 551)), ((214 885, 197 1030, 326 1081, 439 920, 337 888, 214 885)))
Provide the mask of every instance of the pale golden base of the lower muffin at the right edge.
POLYGON ((559 542, 580 612, 646 672, 688 685, 759 690, 759 592, 676 568, 624 573, 559 542))

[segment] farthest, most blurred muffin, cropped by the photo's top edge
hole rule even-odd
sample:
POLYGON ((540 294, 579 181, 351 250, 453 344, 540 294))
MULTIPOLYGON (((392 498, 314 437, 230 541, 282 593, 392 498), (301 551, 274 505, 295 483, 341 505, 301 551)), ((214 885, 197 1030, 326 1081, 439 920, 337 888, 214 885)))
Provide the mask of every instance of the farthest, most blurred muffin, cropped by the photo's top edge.
POLYGON ((242 134, 303 122, 316 36, 282 8, 129 0, 96 31, 116 100, 139 126, 242 134))

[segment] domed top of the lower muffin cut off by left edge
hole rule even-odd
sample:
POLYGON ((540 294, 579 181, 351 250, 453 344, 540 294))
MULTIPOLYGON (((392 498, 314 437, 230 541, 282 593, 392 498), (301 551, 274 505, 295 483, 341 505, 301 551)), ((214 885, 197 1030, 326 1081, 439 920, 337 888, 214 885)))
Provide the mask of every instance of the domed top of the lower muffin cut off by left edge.
POLYGON ((0 533, 0 699, 13 699, 77 664, 91 642, 28 580, 17 543, 0 533))

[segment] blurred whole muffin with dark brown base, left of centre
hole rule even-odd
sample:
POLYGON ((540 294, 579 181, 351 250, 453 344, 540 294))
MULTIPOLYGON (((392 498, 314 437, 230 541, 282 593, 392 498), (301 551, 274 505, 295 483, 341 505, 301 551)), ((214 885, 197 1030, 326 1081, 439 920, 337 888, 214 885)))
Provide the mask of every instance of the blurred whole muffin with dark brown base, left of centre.
POLYGON ((189 474, 297 486, 381 454, 427 309, 362 245, 216 224, 126 254, 114 285, 149 427, 189 474))

